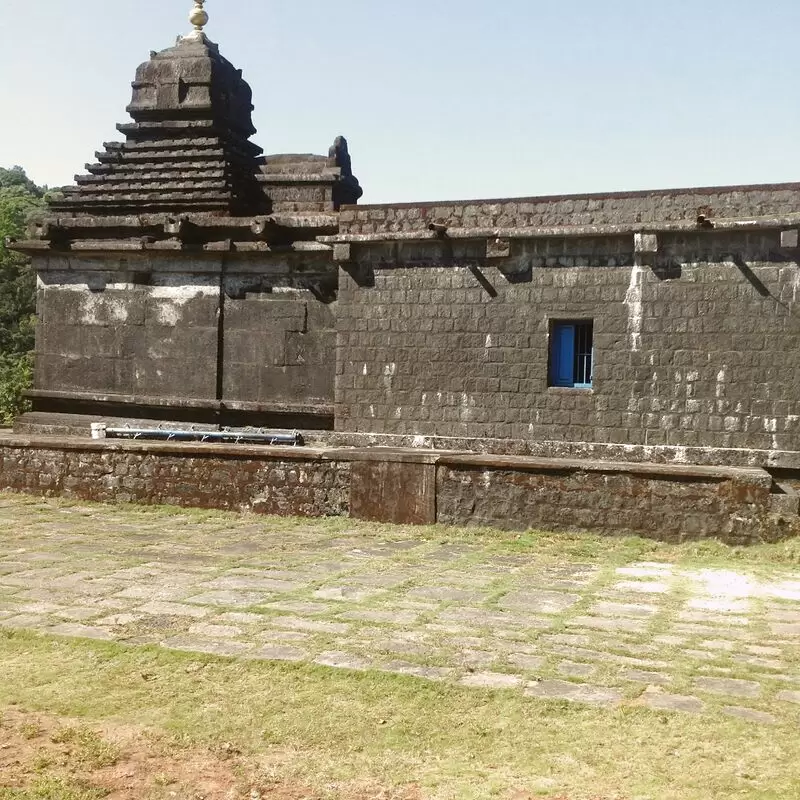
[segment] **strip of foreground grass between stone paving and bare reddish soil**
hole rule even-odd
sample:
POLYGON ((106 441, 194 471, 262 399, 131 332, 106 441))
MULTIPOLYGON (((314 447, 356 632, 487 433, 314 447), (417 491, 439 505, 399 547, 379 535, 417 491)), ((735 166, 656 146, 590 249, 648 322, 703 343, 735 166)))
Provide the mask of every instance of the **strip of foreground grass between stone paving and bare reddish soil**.
MULTIPOLYGON (((437 800, 516 790, 570 800, 800 795, 796 720, 762 727, 635 705, 595 709, 383 673, 29 634, 0 635, 0 661, 0 707, 144 724, 166 731, 174 747, 232 744, 320 797, 351 780, 416 783, 437 800)), ((27 793, 0 791, 0 800, 95 797, 42 781, 27 793)))

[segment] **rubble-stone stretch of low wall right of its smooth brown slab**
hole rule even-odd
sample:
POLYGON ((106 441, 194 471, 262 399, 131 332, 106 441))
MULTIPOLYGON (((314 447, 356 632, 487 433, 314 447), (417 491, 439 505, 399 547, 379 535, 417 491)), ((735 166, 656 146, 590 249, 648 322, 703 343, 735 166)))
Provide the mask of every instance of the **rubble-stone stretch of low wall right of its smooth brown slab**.
MULTIPOLYGON (((630 472, 486 470, 462 465, 437 471, 437 517, 446 525, 538 530, 635 530, 681 542, 704 531, 732 544, 764 535, 762 485, 695 476, 630 472)), ((773 531, 777 535, 777 531, 773 531)))

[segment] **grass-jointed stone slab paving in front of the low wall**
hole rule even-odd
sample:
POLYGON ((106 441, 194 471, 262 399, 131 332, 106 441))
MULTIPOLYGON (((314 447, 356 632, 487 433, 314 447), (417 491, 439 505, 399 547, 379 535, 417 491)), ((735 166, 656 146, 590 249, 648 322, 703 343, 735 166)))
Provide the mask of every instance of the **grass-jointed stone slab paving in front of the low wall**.
POLYGON ((0 628, 800 719, 800 571, 573 563, 436 529, 0 495, 0 628))

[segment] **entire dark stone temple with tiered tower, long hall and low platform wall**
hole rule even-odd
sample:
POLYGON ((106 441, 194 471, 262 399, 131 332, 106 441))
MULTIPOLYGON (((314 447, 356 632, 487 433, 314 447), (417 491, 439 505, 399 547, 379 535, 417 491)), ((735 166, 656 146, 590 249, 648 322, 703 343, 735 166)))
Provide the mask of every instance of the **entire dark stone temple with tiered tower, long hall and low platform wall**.
MULTIPOLYGON (((201 26, 198 26, 201 27, 201 26)), ((358 205, 200 30, 32 219, 0 488, 755 541, 800 529, 800 184, 358 205), (93 440, 91 423, 304 447, 93 440)))

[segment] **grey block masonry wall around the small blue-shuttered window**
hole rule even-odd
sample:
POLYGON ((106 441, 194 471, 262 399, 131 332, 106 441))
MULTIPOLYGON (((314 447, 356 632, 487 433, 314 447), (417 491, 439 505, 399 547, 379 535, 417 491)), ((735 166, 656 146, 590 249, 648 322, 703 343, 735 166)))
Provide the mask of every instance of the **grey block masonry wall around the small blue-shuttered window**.
POLYGON ((505 264, 359 245, 337 430, 800 450, 800 267, 779 237, 662 234, 652 267, 632 236, 515 241, 505 264), (572 319, 594 323, 591 389, 548 386, 550 323, 572 319))

